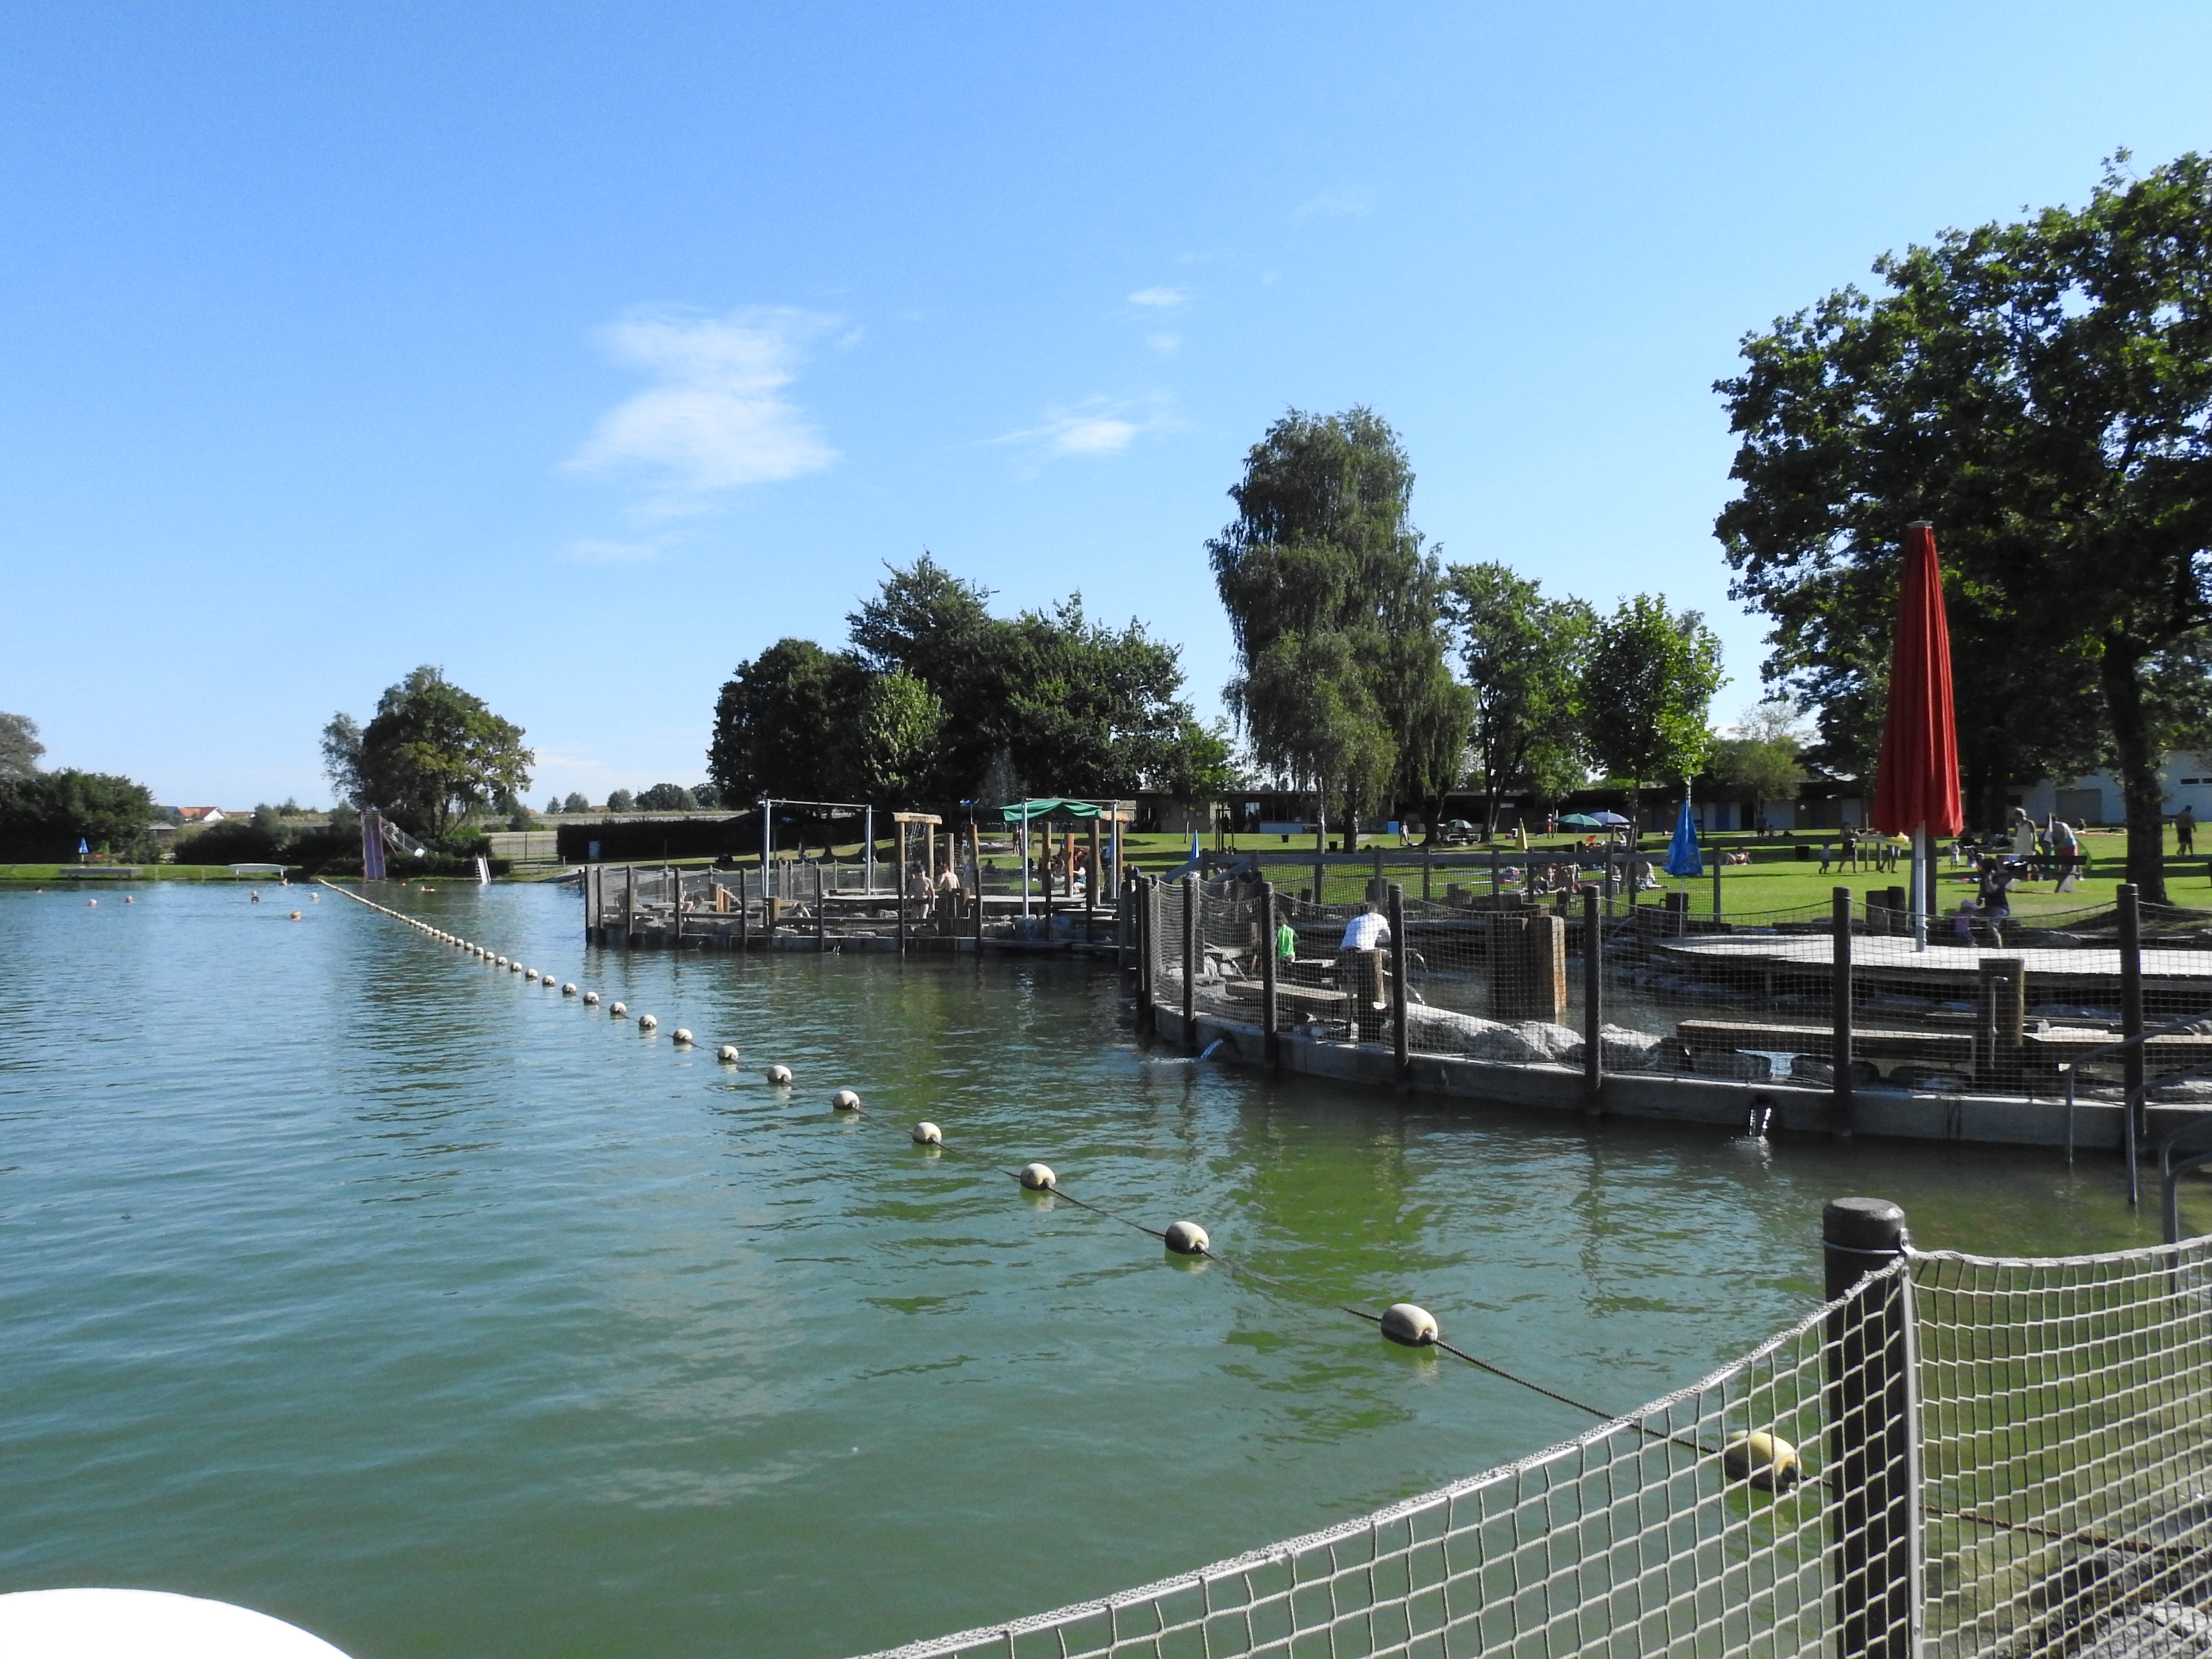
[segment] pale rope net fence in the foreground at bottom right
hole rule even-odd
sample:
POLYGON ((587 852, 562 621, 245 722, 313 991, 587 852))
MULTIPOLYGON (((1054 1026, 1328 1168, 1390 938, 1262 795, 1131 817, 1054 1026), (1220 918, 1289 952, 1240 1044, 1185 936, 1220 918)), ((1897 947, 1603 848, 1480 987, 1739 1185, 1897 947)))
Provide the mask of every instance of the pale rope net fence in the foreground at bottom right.
POLYGON ((1533 1458, 896 1659, 2212 1652, 2205 1290, 1909 1254, 1533 1458))

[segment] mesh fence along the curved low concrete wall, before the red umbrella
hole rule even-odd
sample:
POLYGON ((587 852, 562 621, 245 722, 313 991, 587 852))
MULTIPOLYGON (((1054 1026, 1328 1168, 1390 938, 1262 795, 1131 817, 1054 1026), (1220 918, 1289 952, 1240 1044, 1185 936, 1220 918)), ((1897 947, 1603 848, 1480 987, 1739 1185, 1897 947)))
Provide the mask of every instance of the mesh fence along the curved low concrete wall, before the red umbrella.
MULTIPOLYGON (((1484 872, 1469 860, 1460 874, 1484 872)), ((2148 1102, 2212 1104, 2212 929, 2201 918, 2146 911, 2130 942, 2110 905, 1951 911, 1922 945, 1902 887, 1854 896, 1838 927, 1834 905, 1714 916, 1679 887, 1644 894, 1621 858, 1610 883, 1601 865, 1577 863, 1573 887, 1502 865, 1495 889, 1431 880, 1442 898, 1418 898, 1394 880, 1405 872, 1378 867, 1316 902, 1312 874, 1148 885, 1152 1000, 1183 1004, 1188 951, 1194 1015, 1263 1022, 1272 969, 1276 1031, 1394 1046, 1402 1002, 1413 1055, 1579 1066, 1595 1033, 1606 1073, 1820 1088, 1834 1086, 1849 1022, 1854 1086, 2119 1099, 2139 1053, 2148 1102), (1197 907, 1188 942, 1186 894, 1197 907), (1363 938, 1369 909, 1396 918, 1387 940, 1363 938), (2130 980, 2152 1031, 2132 1051, 2130 980)))

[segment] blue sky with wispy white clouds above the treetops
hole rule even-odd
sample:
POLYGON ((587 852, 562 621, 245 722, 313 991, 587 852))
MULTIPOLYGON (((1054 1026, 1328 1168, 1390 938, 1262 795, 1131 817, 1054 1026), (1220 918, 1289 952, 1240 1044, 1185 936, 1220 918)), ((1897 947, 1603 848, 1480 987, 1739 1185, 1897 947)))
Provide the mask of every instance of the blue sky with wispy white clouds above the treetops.
POLYGON ((533 799, 703 776, 883 562, 1141 617, 1369 403, 1453 560, 1708 613, 1736 341, 2201 148, 2201 4, 22 4, 0 708, 173 803, 327 799, 420 661, 533 799))

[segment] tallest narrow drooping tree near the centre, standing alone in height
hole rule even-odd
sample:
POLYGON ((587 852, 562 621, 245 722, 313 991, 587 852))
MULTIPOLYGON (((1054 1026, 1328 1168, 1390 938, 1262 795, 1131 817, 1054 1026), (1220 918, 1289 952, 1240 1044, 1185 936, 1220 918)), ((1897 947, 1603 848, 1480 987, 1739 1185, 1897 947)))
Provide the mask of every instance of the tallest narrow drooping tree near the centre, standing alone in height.
MULTIPOLYGON (((1451 787, 1471 703, 1444 661, 1442 573, 1413 469, 1371 409, 1290 409, 1245 456, 1206 544, 1237 641, 1230 712, 1252 759, 1345 816, 1451 787)), ((1431 812, 1436 816, 1436 812, 1431 812)))

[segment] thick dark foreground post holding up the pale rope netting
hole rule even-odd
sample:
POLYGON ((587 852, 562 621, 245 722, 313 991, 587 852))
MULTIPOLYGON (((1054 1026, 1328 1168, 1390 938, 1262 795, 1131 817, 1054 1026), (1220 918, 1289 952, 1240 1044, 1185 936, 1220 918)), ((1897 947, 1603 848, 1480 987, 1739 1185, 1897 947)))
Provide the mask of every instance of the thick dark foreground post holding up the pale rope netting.
MULTIPOLYGON (((1887 1199, 1829 1199, 1820 1214, 1827 1298, 1845 1296, 1907 1245, 1887 1199)), ((1920 1657, 1920 1420, 1911 1281, 1891 1279, 1827 1316, 1827 1438, 1838 1652, 1920 1657)))

